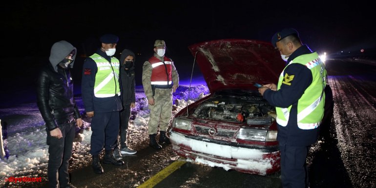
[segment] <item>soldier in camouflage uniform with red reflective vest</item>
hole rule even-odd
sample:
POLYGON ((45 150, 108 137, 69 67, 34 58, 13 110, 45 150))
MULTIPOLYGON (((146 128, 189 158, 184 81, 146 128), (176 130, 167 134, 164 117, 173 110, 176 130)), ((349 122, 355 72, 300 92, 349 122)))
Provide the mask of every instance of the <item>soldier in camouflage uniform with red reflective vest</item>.
POLYGON ((154 55, 143 65, 142 84, 150 109, 150 120, 147 125, 149 146, 161 149, 159 143, 170 144, 166 134, 172 113, 172 92, 179 86, 179 75, 170 58, 165 56, 166 43, 162 40, 154 42, 154 55), (160 129, 159 143, 156 140, 160 129))

